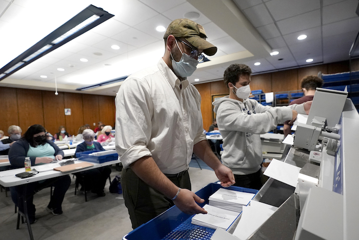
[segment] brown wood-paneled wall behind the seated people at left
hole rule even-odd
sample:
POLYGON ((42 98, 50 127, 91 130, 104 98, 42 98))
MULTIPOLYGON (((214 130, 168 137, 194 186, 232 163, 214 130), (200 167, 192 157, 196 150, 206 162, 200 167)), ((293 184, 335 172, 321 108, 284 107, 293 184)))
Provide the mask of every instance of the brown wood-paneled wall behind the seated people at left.
POLYGON ((76 93, 56 96, 53 91, 0 87, 0 101, 0 130, 5 135, 10 125, 20 126, 25 133, 29 126, 41 124, 51 134, 64 125, 69 134, 77 135, 84 124, 90 124, 94 130, 98 121, 111 126, 115 122, 113 96, 76 93), (71 109, 71 115, 65 116, 65 108, 71 109))

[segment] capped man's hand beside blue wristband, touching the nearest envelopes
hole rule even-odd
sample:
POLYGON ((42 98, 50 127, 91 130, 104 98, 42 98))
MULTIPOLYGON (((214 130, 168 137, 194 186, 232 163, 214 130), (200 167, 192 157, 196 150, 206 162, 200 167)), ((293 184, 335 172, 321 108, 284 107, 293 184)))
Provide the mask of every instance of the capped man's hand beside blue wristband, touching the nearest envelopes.
POLYGON ((189 191, 188 189, 181 189, 176 199, 173 200, 173 203, 177 206, 182 212, 193 215, 197 213, 207 214, 207 211, 198 206, 198 203, 202 204, 205 200, 198 197, 194 192, 189 191))

